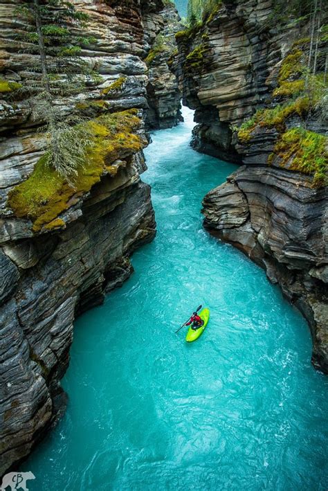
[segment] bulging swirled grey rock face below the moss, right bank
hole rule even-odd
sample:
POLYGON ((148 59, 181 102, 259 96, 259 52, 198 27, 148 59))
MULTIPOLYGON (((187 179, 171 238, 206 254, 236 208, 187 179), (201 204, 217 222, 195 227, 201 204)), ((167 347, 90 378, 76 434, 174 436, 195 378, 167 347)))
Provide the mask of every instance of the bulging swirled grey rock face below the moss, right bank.
POLYGON ((328 373, 327 187, 275 166, 243 166, 203 199, 204 224, 266 270, 309 321, 312 362, 328 373))

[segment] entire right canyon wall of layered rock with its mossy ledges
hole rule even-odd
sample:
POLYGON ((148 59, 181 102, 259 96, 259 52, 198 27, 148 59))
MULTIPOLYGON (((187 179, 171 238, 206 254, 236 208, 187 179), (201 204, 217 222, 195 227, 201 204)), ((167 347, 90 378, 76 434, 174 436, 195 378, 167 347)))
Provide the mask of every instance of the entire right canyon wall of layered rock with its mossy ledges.
POLYGON ((245 164, 206 195, 204 224, 282 287, 309 321, 313 365, 328 373, 327 121, 302 93, 306 36, 276 17, 271 1, 222 1, 176 36, 178 73, 199 123, 194 148, 245 164))

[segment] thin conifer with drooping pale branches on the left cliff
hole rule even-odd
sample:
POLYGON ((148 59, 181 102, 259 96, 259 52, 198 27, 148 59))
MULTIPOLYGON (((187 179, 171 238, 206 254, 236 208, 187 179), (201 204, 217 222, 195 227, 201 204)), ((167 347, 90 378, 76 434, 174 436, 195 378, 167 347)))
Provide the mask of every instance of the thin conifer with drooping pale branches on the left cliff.
POLYGON ((24 50, 39 55, 34 67, 37 80, 29 90, 33 93, 33 115, 44 121, 46 159, 73 186, 91 135, 83 134, 80 118, 63 118, 53 102, 58 94, 67 96, 85 87, 87 69, 80 57, 81 46, 95 40, 74 37, 71 30, 82 28, 88 17, 65 0, 31 0, 21 4, 17 12, 26 21, 26 31, 20 35, 24 50))

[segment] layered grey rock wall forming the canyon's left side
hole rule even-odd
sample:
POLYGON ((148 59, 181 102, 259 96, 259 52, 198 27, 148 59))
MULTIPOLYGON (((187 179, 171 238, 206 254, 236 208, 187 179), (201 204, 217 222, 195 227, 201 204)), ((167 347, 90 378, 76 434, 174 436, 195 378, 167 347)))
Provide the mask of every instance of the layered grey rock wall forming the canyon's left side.
POLYGON ((0 474, 27 456, 64 410, 60 379, 69 364, 75 316, 122 284, 132 271, 129 256, 155 234, 149 186, 140 180, 149 80, 143 60, 149 51, 145 24, 163 3, 75 4, 88 14, 87 31, 95 39, 82 51, 91 75, 83 91, 58 93, 53 104, 66 116, 115 113, 116 119, 109 130, 106 118, 94 120, 103 135, 98 135, 98 175, 91 169, 90 184, 76 192, 64 185, 55 216, 46 211, 47 200, 37 202, 41 221, 35 211, 17 217, 19 193, 30 199, 19 186, 35 176, 45 148, 37 132, 42 116, 35 118, 30 92, 19 90, 39 80, 36 55, 19 47, 16 3, 8 0, 0 8, 0 474), (116 114, 130 108, 136 109, 116 114), (122 132, 125 118, 133 123, 116 138, 113 127, 118 124, 122 132))

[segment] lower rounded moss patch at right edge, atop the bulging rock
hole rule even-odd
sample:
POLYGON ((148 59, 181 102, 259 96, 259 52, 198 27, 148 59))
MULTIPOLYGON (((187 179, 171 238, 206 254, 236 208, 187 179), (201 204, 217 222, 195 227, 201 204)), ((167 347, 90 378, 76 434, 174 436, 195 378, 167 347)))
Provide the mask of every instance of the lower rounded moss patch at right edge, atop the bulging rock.
POLYGON ((313 185, 322 186, 327 184, 328 175, 326 146, 325 136, 298 127, 280 136, 274 152, 280 157, 282 167, 289 166, 291 170, 313 175, 313 185))

